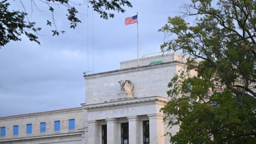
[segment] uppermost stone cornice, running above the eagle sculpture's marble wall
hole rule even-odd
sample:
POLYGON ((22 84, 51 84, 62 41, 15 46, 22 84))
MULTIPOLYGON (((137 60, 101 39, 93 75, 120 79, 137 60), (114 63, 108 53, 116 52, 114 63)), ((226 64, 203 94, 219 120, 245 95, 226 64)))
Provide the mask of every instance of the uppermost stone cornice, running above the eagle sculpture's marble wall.
POLYGON ((118 70, 113 70, 113 71, 107 71, 107 72, 102 72, 102 73, 95 73, 95 74, 89 74, 89 75, 84 75, 85 79, 92 79, 92 78, 98 78, 98 77, 105 77, 105 76, 110 76, 110 75, 119 75, 123 73, 131 73, 131 72, 137 72, 137 71, 144 71, 148 69, 156 69, 160 67, 169 67, 169 66, 183 66, 185 67, 186 64, 180 61, 171 61, 171 62, 163 62, 160 64, 155 64, 155 65, 144 65, 144 66, 137 66, 137 67, 132 67, 132 68, 126 68, 126 69, 118 69, 118 70))

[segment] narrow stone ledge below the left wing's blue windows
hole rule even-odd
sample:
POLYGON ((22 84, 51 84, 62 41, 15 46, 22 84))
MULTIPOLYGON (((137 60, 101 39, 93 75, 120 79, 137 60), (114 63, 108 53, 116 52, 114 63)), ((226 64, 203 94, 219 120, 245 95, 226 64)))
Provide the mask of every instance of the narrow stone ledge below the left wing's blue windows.
POLYGON ((24 137, 24 138, 14 138, 14 139, 4 139, 0 140, 0 143, 2 142, 15 142, 15 141, 26 141, 26 140, 35 140, 35 139, 50 139, 50 138, 56 138, 56 137, 74 137, 75 135, 81 136, 81 132, 75 132, 75 133, 66 133, 66 134, 56 134, 56 135, 46 135, 46 136, 34 136, 34 137, 24 137))

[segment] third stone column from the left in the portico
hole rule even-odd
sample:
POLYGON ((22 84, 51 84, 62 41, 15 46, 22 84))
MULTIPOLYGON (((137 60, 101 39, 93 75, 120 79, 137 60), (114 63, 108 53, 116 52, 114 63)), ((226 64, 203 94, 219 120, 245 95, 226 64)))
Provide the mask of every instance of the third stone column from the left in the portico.
POLYGON ((143 133, 142 133, 142 122, 140 117, 131 116, 127 117, 129 120, 129 143, 130 144, 142 144, 143 133))

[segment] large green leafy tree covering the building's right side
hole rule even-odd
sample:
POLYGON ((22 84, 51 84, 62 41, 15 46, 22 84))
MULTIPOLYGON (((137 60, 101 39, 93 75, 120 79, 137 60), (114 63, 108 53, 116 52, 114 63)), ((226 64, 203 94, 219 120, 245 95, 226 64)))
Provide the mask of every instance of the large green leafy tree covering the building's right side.
POLYGON ((183 17, 169 17, 159 29, 175 35, 161 49, 189 57, 162 108, 169 126, 179 125, 170 142, 255 143, 256 2, 191 0, 184 8, 183 17), (191 70, 197 75, 189 77, 191 70))

